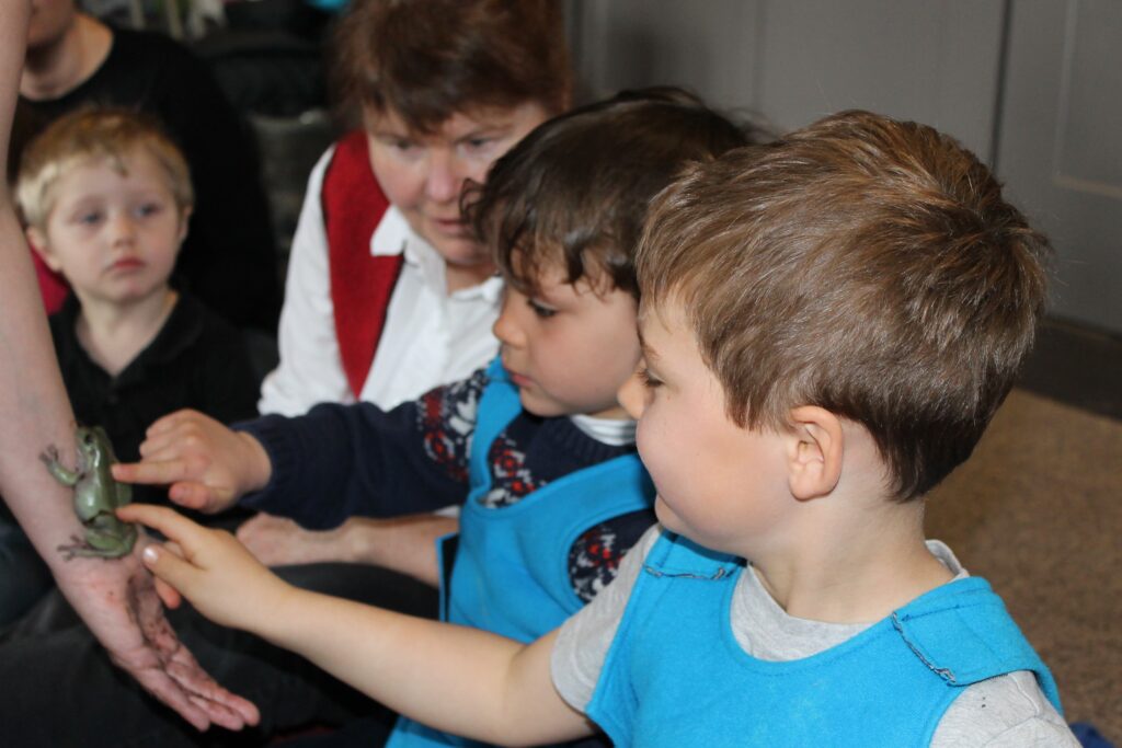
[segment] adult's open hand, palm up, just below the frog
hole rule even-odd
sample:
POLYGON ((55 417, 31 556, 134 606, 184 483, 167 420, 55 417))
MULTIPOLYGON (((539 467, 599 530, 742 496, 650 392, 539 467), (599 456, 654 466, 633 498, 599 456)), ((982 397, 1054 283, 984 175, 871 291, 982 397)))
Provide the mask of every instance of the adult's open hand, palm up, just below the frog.
POLYGON ((139 550, 107 562, 65 564, 58 585, 109 652, 135 677, 196 729, 212 723, 230 730, 257 724, 251 702, 214 682, 178 640, 139 560, 139 550))

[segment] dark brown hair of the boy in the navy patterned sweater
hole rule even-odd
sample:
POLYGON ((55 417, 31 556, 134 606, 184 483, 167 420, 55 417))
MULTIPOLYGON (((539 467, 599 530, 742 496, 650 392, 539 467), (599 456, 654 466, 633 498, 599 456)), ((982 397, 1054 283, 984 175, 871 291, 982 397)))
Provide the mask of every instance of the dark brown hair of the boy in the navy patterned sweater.
POLYGON ((560 267, 567 283, 603 277, 637 297, 651 200, 686 164, 763 137, 681 89, 624 91, 539 126, 465 193, 463 210, 515 287, 534 292, 560 267))

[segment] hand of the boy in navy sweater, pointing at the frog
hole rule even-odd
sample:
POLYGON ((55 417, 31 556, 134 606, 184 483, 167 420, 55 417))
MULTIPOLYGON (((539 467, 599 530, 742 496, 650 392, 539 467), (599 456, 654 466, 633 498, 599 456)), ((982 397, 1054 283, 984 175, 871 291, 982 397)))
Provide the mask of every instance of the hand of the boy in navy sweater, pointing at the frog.
POLYGON ((140 462, 113 465, 126 483, 171 484, 176 504, 206 512, 265 488, 273 465, 260 443, 196 410, 176 410, 148 427, 140 462))

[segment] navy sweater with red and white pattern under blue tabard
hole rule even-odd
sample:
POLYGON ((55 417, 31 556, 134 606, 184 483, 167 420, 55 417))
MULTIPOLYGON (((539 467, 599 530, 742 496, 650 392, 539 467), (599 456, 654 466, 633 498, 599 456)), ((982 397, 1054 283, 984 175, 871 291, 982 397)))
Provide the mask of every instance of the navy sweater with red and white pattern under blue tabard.
MULTIPOLYGON (((296 418, 270 415, 239 424, 273 463, 269 484, 241 504, 309 529, 330 529, 352 516, 393 517, 461 505, 487 382, 480 370, 393 410, 369 403, 323 404, 296 418)), ((523 410, 490 445, 493 490, 481 502, 502 511, 550 481, 634 449, 598 442, 567 417, 523 410)), ((615 578, 623 555, 654 520, 653 511, 636 511, 581 534, 569 551, 569 578, 582 600, 615 578)))

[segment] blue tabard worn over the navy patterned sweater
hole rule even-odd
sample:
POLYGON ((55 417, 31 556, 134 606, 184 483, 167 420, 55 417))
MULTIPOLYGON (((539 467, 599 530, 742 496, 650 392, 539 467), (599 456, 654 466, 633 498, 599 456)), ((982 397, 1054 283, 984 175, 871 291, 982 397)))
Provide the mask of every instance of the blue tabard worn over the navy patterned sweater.
MULTIPOLYGON (((496 359, 471 441, 468 500, 460 510, 451 579, 441 580, 441 618, 528 643, 583 607, 569 578, 569 550, 589 528, 650 509, 654 484, 635 454, 579 470, 498 509, 479 502, 491 487, 490 445, 521 412, 496 359)), ((447 547, 447 546, 444 546, 447 547)), ((442 567, 448 566, 442 564, 442 567)), ((387 748, 480 746, 398 719, 387 748)))

